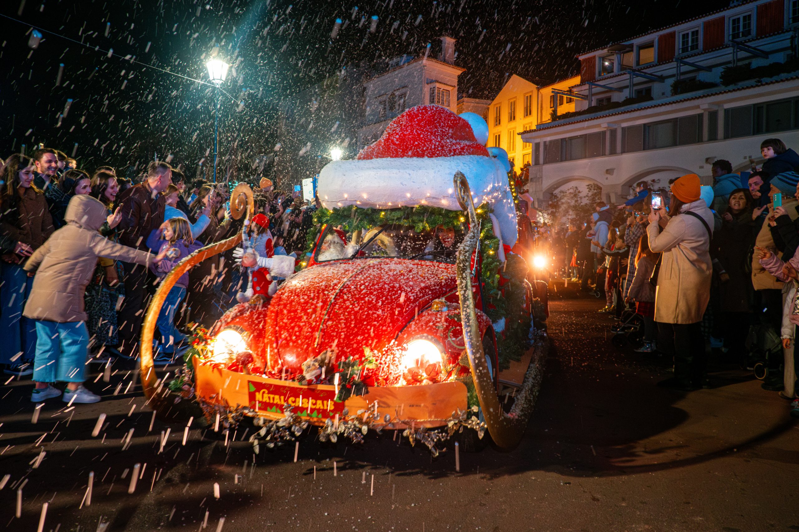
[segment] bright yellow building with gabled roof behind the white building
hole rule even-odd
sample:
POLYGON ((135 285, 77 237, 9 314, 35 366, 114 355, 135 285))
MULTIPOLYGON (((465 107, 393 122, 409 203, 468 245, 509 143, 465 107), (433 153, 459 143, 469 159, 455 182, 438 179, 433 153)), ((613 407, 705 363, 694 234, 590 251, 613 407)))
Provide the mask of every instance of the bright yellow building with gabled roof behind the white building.
POLYGON ((516 171, 531 164, 532 144, 522 142, 519 135, 551 121, 556 102, 559 114, 574 111, 574 98, 552 90, 567 91, 579 82, 580 77, 575 76, 539 87, 516 74, 511 76, 488 108, 488 146, 503 148, 516 171))

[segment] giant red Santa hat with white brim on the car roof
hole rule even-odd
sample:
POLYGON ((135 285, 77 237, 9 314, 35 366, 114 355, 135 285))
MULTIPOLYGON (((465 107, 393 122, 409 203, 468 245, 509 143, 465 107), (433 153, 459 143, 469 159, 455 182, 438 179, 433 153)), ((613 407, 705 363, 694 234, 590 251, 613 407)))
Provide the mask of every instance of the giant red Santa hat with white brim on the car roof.
POLYGON ((475 206, 491 205, 503 243, 513 246, 516 211, 507 173, 475 139, 469 122, 440 105, 408 109, 356 160, 327 164, 318 193, 328 209, 427 205, 459 211, 452 183, 456 171, 466 176, 475 206))

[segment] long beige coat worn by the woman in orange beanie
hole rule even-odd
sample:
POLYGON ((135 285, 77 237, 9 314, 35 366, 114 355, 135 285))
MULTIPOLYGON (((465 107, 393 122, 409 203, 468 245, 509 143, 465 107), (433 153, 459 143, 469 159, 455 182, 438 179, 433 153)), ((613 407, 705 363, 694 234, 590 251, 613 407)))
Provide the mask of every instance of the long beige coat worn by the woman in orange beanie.
POLYGON ((713 213, 704 199, 683 205, 663 231, 657 223, 646 227, 650 250, 663 253, 654 303, 654 320, 662 323, 702 321, 710 301, 711 235, 702 222, 684 214, 687 211, 701 216, 712 231, 713 213))

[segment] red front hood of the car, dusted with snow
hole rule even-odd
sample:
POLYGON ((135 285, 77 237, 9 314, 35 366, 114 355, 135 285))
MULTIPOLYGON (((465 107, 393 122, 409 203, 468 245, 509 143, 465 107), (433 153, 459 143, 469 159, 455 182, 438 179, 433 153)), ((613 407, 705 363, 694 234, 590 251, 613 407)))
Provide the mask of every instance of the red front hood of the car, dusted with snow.
POLYGON ((238 325, 267 372, 300 373, 303 361, 335 360, 383 349, 431 301, 456 288, 455 266, 400 258, 352 259, 312 266, 284 282, 268 305, 239 305, 216 331, 238 325))

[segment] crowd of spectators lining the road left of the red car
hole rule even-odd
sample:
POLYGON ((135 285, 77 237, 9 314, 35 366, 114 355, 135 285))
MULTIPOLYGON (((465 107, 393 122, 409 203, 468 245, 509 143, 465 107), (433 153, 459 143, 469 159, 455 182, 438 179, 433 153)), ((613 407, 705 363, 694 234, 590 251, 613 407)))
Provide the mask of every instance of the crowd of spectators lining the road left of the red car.
MULTIPOLYGON (((54 382, 66 383, 64 401, 100 400, 82 385, 85 366, 134 361, 145 309, 165 274, 243 229, 229 211, 234 183, 187 183, 164 161, 135 179, 78 166, 43 147, 0 160, 0 364, 6 374, 32 375, 34 401, 61 396, 54 382)), ((315 206, 269 179, 252 185, 256 249, 300 256, 315 206)), ((232 251, 181 276, 157 319, 155 363, 177 361, 190 327, 212 325, 245 283, 232 251)))

